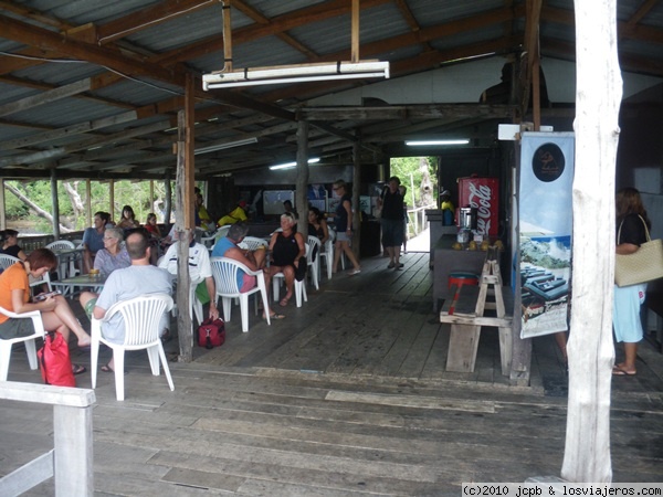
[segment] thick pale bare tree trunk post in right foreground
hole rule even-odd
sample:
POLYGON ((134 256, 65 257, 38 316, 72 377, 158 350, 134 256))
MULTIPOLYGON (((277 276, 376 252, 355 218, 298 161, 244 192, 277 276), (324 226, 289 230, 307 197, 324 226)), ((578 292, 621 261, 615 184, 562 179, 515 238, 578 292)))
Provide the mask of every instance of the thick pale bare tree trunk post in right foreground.
POLYGON ((609 483, 612 479, 610 382, 614 360, 614 171, 622 96, 617 0, 576 0, 575 6, 577 96, 572 194, 573 218, 582 222, 573 223, 569 404, 561 477, 575 483, 609 483))

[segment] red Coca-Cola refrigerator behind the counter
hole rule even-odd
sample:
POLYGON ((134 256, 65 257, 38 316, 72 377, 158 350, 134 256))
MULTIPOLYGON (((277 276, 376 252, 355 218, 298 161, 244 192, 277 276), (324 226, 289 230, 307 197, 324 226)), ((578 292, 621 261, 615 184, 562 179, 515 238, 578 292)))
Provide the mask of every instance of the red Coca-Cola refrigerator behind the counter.
MULTIPOLYGON (((476 208, 476 234, 497 236, 499 229, 498 178, 459 178, 459 208, 476 208)), ((457 219, 459 216, 456 216, 457 219)))

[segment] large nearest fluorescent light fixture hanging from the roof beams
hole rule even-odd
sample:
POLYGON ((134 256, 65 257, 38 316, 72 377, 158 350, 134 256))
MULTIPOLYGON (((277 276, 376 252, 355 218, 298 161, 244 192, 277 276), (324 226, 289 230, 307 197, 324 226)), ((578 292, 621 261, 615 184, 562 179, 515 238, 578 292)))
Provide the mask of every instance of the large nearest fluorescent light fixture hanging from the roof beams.
POLYGON ((366 77, 389 78, 389 62, 329 62, 325 64, 256 67, 254 70, 244 68, 230 73, 215 72, 202 76, 202 89, 366 77))

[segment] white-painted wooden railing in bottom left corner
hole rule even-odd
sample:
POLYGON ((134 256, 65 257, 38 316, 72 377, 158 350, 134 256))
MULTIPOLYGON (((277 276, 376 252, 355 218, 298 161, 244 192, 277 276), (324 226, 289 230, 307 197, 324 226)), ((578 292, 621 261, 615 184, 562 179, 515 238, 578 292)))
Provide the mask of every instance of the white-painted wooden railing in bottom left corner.
POLYGON ((54 440, 53 450, 0 479, 0 495, 18 496, 54 477, 56 496, 92 496, 94 390, 0 381, 0 399, 52 404, 54 440))

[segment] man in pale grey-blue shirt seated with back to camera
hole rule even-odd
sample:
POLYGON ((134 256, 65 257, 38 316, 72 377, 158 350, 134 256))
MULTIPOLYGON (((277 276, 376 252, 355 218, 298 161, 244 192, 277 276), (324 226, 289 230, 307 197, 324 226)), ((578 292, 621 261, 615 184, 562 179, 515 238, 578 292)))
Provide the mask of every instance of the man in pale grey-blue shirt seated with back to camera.
MULTIPOLYGON (((172 293, 172 283, 167 271, 155 267, 149 263, 149 240, 140 231, 127 236, 127 252, 131 258, 131 265, 123 269, 115 269, 106 279, 104 289, 98 298, 92 293, 81 295, 81 305, 86 311, 92 309, 92 315, 103 319, 106 310, 117 302, 128 300, 144 294, 168 294, 172 293)), ((164 314, 161 329, 168 327, 168 315, 164 314)), ((104 338, 122 342, 124 340, 124 320, 119 314, 113 316, 109 322, 102 327, 104 338)), ((102 371, 114 371, 113 359, 102 366, 102 371)))

